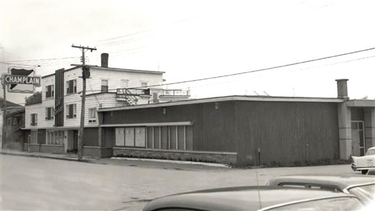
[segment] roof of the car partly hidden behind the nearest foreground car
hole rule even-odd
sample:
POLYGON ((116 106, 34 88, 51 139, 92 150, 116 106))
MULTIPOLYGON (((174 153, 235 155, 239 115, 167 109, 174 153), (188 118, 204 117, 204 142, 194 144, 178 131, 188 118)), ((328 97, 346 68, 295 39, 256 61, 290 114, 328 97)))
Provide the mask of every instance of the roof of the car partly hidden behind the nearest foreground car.
POLYGON ((375 183, 374 176, 367 175, 290 175, 276 176, 267 185, 277 186, 281 183, 319 184, 345 189, 353 185, 375 183))

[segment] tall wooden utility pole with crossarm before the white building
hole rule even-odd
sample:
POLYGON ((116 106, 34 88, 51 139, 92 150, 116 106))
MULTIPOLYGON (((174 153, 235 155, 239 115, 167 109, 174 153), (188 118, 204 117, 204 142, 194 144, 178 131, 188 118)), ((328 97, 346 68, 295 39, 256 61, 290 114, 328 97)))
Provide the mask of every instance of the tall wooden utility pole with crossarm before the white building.
POLYGON ((74 65, 74 66, 81 66, 82 67, 82 104, 81 104, 81 125, 79 127, 79 133, 78 133, 78 160, 82 160, 83 157, 83 131, 85 127, 85 98, 86 98, 86 78, 90 78, 90 67, 88 65, 85 65, 85 51, 90 50, 96 51, 96 48, 90 48, 90 47, 81 47, 81 46, 75 46, 72 44, 73 48, 81 49, 82 51, 82 65, 74 65))

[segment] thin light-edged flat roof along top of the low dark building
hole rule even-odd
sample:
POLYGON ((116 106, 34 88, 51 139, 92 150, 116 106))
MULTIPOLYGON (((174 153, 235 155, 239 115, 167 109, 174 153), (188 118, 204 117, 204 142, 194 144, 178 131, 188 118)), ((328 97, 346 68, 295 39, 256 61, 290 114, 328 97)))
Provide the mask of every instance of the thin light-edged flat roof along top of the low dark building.
POLYGON ((317 102, 317 103, 342 103, 343 99, 337 98, 316 98, 316 97, 290 97, 290 96, 219 96, 206 99, 190 99, 183 101, 174 101, 167 103, 153 103, 143 105, 121 106, 113 108, 102 108, 98 112, 114 111, 114 110, 131 110, 140 108, 158 108, 173 105, 190 105, 197 103, 216 103, 222 101, 279 101, 279 102, 317 102))

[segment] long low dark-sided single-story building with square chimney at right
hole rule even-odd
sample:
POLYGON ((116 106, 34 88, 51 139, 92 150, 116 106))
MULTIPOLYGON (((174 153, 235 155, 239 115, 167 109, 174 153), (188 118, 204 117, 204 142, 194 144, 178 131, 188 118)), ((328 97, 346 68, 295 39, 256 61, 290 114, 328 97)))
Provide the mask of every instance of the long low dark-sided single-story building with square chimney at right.
POLYGON ((338 98, 224 96, 103 108, 100 143, 114 156, 237 166, 349 160, 375 146, 375 100, 349 100, 346 83, 338 81, 338 98))

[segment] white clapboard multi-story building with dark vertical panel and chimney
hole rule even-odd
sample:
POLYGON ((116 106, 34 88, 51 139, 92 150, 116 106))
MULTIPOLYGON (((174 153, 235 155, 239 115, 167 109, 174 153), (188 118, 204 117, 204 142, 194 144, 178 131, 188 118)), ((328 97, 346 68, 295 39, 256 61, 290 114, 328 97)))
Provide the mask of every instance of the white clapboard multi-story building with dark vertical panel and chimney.
MULTIPOLYGON (((108 54, 101 67, 90 67, 86 80, 85 155, 99 158, 112 152, 112 144, 101 144, 97 110, 117 106, 161 103, 189 99, 188 90, 163 90, 163 71, 108 67, 108 54), (101 146, 105 145, 105 146, 101 146)), ((42 76, 42 102, 26 105, 24 150, 51 153, 76 152, 81 123, 83 80, 81 67, 58 69, 42 76)))

